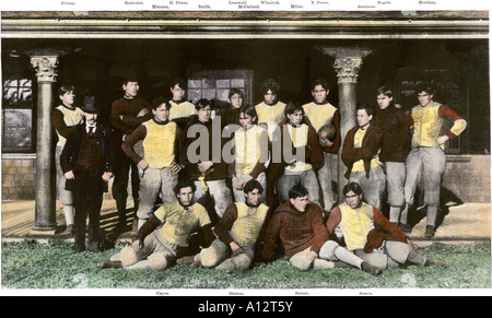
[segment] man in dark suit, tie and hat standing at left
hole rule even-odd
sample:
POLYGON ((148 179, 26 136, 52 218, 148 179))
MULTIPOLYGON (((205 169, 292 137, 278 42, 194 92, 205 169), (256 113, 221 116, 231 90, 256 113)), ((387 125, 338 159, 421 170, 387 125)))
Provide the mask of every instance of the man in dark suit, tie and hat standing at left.
POLYGON ((97 108, 82 107, 84 125, 68 140, 60 155, 65 177, 73 186, 75 204, 75 251, 85 250, 86 217, 89 211, 90 251, 98 250, 99 217, 103 192, 113 176, 109 129, 97 123, 97 108))

